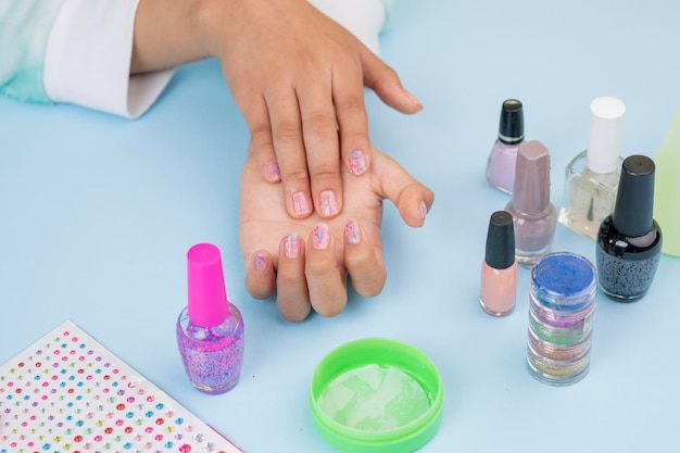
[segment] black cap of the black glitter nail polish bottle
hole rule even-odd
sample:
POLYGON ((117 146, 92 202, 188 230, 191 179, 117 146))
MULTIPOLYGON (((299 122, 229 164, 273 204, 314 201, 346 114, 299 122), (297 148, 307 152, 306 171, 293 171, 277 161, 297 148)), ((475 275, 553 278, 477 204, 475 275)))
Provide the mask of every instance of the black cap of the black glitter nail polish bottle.
POLYGON ((631 155, 624 161, 614 207, 614 227, 628 237, 644 236, 654 222, 654 161, 631 155))

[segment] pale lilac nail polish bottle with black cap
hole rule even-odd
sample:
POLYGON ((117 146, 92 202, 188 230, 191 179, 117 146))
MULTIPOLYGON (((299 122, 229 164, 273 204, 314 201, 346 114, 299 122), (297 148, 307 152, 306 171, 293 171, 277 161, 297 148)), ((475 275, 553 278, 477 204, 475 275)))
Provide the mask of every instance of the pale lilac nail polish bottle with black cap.
POLYGON ((501 109, 499 138, 487 161, 487 181, 506 193, 513 193, 517 149, 525 139, 525 119, 521 102, 507 99, 501 109))

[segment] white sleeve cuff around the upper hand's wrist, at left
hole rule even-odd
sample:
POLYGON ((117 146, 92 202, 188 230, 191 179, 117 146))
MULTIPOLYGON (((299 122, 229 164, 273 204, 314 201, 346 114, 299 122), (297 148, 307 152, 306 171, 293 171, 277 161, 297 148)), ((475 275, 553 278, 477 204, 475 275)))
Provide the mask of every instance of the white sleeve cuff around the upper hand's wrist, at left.
POLYGON ((174 70, 130 76, 139 0, 66 0, 45 56, 45 90, 68 102, 138 117, 159 98, 174 70))

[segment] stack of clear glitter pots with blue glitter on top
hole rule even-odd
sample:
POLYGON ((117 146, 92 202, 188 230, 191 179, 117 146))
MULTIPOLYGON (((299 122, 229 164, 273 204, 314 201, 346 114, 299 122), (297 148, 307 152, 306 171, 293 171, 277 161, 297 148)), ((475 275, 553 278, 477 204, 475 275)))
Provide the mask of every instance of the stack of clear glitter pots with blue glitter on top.
POLYGON ((583 379, 590 367, 597 282, 583 256, 551 253, 531 272, 529 373, 553 386, 583 379))

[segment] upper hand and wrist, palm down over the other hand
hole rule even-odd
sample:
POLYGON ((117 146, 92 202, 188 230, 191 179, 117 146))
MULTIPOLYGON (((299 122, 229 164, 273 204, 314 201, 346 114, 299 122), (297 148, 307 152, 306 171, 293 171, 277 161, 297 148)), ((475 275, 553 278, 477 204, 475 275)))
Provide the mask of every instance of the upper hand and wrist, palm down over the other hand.
POLYGON ((356 176, 370 167, 364 87, 398 111, 421 109, 392 68, 306 0, 166 3, 141 0, 131 71, 219 59, 259 173, 282 183, 294 218, 337 216, 347 203, 339 163, 356 176))

